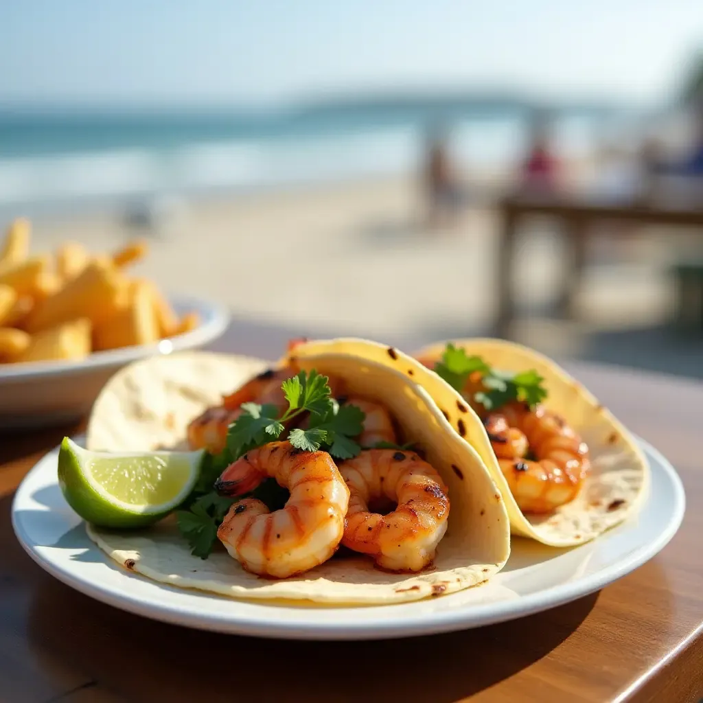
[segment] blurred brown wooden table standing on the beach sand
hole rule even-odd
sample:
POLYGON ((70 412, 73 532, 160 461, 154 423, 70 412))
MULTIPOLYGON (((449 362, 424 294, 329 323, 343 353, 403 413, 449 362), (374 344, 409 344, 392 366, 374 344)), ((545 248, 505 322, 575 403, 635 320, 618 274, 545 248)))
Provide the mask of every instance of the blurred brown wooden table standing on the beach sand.
POLYGON ((517 296, 512 290, 512 273, 517 252, 517 236, 520 224, 526 217, 553 217, 562 224, 568 250, 562 272, 562 292, 557 305, 562 316, 569 316, 573 310, 572 302, 581 284, 586 259, 586 241, 588 236, 597 232, 593 225, 598 221, 703 227, 703 209, 700 207, 665 207, 656 202, 609 205, 579 198, 556 198, 546 193, 517 193, 504 198, 499 209, 502 223, 495 274, 495 295, 498 304, 495 333, 499 337, 509 335, 510 324, 515 319, 517 296))

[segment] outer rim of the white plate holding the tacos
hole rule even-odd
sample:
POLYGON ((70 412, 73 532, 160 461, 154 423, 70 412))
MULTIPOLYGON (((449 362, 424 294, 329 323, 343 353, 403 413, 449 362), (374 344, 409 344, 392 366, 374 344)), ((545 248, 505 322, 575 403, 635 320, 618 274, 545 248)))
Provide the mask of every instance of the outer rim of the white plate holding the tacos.
MULTIPOLYGON (((51 574, 54 578, 61 581, 66 586, 83 593, 95 600, 103 602, 119 610, 131 612, 133 614, 154 619, 157 621, 186 626, 205 631, 215 631, 219 633, 237 634, 243 636, 255 636, 260 638, 275 638, 275 639, 290 639, 290 640, 372 640, 372 639, 394 639, 405 638, 420 635, 430 635, 447 633, 452 631, 460 631, 483 627, 491 624, 496 624, 503 621, 520 619, 531 614, 550 610, 553 607, 563 605, 566 602, 583 598, 586 595, 599 591, 604 586, 617 581, 622 576, 626 576, 644 565, 646 562, 654 558, 659 552, 666 547, 674 535, 678 532, 683 522, 685 515, 685 489, 681 477, 659 450, 655 449, 649 442, 633 435, 636 441, 645 451, 649 470, 652 470, 653 459, 666 475, 666 479, 673 489, 674 501, 672 505, 671 517, 666 522, 666 529, 650 543, 645 543, 637 548, 626 560, 611 565, 599 572, 596 572, 590 577, 588 588, 579 588, 581 579, 576 579, 570 583, 560 583, 556 586, 550 586, 543 591, 538 591, 530 595, 522 596, 515 600, 506 600, 498 602, 489 602, 485 604, 472 605, 470 607, 459 608, 456 610, 446 610, 441 613, 420 613, 418 615, 404 616, 400 621, 394 622, 379 622, 378 624, 369 623, 366 619, 351 620, 340 624, 337 621, 320 622, 315 624, 302 624, 299 621, 286 622, 278 621, 272 624, 269 621, 257 621, 251 617, 232 617, 228 616, 225 619, 215 617, 213 614, 203 614, 193 610, 183 610, 183 608, 174 605, 168 605, 168 602, 144 602, 143 598, 130 597, 124 592, 121 594, 113 594, 109 590, 101 588, 99 583, 95 583, 89 579, 83 579, 81 576, 76 576, 70 569, 63 569, 57 566, 54 562, 45 560, 37 550, 32 548, 32 544, 23 533, 15 515, 18 512, 16 506, 18 495, 22 484, 25 483, 27 477, 32 472, 37 470, 37 467, 53 452, 58 450, 58 447, 51 449, 42 456, 32 469, 27 472, 27 475, 22 479, 20 485, 15 490, 13 497, 11 520, 15 536, 20 542, 20 545, 32 560, 41 567, 44 571, 51 574), (478 617, 477 617, 478 611, 478 617)), ((644 505, 651 500, 651 494, 645 498, 645 502, 640 505, 640 511, 644 505)), ((615 527, 614 529, 617 529, 615 527)), ((612 530, 610 530, 612 531, 612 530)), ((610 532, 609 531, 609 532, 610 532)), ((581 547, 588 546, 582 545, 581 547)), ((36 547, 36 545, 34 545, 36 547)), ((577 547, 581 548, 581 547, 577 547)), ((97 548, 96 548, 97 549, 97 548)), ((109 557, 105 556, 106 559, 109 557)), ((130 576, 124 574, 125 577, 130 576)), ((134 578, 134 576, 131 576, 134 578)), ((146 577, 144 577, 146 579, 146 577)), ((146 579, 151 581, 151 579, 146 579)), ((183 590, 183 589, 181 589, 183 590)), ((207 593, 199 593, 205 595, 207 593)), ((219 598, 219 596, 213 595, 219 598)), ((238 599, 232 599, 238 600, 238 599)), ((252 604, 251 600, 246 600, 252 604)), ((266 607, 265 601, 254 602, 254 605, 266 607)), ((387 605, 370 605, 368 607, 354 607, 339 609, 330 608, 330 610, 354 610, 354 612, 373 613, 373 610, 378 607, 393 607, 394 604, 387 605)), ((408 605, 408 604, 401 604, 408 605)), ((303 609, 301 609, 303 610, 303 609)))

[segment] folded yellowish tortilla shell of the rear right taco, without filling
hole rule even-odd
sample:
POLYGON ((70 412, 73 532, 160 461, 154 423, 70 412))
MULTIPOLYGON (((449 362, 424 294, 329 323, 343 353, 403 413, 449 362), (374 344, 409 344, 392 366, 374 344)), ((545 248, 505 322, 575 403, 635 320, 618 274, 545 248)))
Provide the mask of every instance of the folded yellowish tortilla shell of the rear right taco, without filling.
MULTIPOLYGON (((536 370, 544 378, 548 393, 543 405, 561 415, 588 444, 591 471, 574 501, 547 515, 523 514, 512 498, 478 415, 471 408, 463 412, 462 396, 434 371, 415 377, 489 467, 508 505, 512 534, 552 546, 571 546, 593 539, 638 510, 650 478, 643 451, 625 427, 578 381, 548 357, 520 344, 484 338, 449 342, 464 349, 468 356, 481 356, 499 370, 536 370)), ((433 344, 416 356, 427 366, 434 366, 445 347, 446 342, 433 344)), ((463 404, 463 408, 467 405, 463 404)))

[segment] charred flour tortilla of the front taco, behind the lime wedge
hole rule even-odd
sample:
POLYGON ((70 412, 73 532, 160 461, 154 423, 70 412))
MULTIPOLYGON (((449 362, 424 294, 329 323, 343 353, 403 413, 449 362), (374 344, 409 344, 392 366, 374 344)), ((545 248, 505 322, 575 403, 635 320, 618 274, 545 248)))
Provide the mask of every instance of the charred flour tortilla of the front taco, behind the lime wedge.
MULTIPOLYGON (((366 359, 363 354, 347 353, 344 344, 330 353, 307 353, 311 349, 309 344, 301 348, 305 352, 298 359, 302 368, 343 378, 350 394, 361 394, 387 406, 404 441, 414 441, 449 486, 449 527, 429 569, 418 574, 390 574, 376 569, 368 557, 342 554, 344 550, 340 550, 332 559, 300 576, 280 581, 262 579, 245 572, 220 546, 207 560, 193 557, 171 517, 141 531, 89 526, 91 539, 120 565, 150 579, 233 598, 372 605, 452 593, 496 574, 510 551, 505 503, 484 463, 452 431, 430 395, 410 382, 406 374, 366 359)), ((373 345, 368 349, 373 349, 373 345)), ((112 451, 152 449, 152 428, 158 434, 158 444, 165 438, 180 444, 188 421, 211 404, 214 395, 219 398, 231 392, 267 366, 264 362, 257 366, 252 359, 203 354, 148 359, 115 375, 103 389, 91 416, 91 449, 97 448, 94 443, 104 446, 108 441, 112 451), (241 374, 233 385, 231 379, 238 365, 241 374), (200 373, 205 374, 200 388, 210 392, 202 397, 202 403, 194 400, 200 373), (183 378, 188 382, 184 384, 183 378), (165 427, 162 423, 169 418, 165 404, 182 392, 188 396, 188 411, 179 410, 176 427, 172 427, 170 419, 165 427), (186 414, 190 416, 186 418, 186 414), (119 434, 110 430, 115 423, 120 427, 119 434)), ((422 370, 418 362, 410 363, 418 372, 422 370)))

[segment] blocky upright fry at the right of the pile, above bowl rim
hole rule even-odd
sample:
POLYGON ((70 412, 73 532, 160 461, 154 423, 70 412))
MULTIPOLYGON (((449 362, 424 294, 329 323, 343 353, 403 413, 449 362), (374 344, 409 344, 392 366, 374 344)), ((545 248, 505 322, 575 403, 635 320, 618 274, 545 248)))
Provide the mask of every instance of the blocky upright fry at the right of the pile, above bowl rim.
POLYGON ((93 332, 96 351, 153 344, 159 337, 159 325, 148 285, 133 285, 127 308, 97 325, 93 332))

